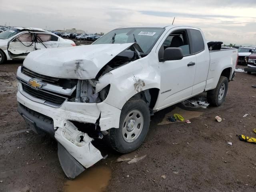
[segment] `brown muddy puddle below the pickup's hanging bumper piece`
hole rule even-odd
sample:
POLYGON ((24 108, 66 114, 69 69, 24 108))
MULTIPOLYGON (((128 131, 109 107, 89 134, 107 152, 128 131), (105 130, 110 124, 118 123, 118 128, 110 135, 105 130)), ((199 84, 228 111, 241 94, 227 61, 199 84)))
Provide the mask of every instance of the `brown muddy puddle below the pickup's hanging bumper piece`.
POLYGON ((74 180, 68 180, 63 192, 104 192, 111 178, 111 168, 94 166, 86 169, 74 180))

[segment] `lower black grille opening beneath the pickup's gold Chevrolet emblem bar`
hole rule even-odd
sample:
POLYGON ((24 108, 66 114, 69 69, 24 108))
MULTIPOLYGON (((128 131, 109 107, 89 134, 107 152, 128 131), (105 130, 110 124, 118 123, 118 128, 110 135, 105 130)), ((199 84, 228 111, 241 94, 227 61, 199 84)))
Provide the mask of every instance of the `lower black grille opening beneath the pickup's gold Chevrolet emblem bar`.
POLYGON ((34 96, 36 98, 43 99, 55 104, 62 104, 67 99, 62 96, 57 96, 42 90, 34 89, 26 84, 22 84, 22 89, 24 90, 24 92, 30 94, 31 96, 34 96))

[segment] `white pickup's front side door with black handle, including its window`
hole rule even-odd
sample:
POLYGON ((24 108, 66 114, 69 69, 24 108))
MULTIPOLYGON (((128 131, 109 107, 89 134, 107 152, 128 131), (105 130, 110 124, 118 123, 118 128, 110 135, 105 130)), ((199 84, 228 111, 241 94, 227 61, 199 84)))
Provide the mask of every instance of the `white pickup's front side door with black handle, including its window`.
POLYGON ((162 44, 162 52, 168 47, 181 48, 184 57, 181 60, 158 63, 161 73, 159 108, 165 108, 190 97, 196 74, 196 56, 190 53, 186 30, 172 32, 162 44))

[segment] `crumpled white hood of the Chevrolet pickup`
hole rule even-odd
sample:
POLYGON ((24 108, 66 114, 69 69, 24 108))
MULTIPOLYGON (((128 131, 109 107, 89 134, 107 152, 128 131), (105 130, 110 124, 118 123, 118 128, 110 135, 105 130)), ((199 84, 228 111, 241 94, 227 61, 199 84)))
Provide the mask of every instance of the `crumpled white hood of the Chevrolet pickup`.
POLYGON ((93 44, 37 50, 28 54, 23 66, 51 77, 93 79, 112 58, 133 44, 93 44))

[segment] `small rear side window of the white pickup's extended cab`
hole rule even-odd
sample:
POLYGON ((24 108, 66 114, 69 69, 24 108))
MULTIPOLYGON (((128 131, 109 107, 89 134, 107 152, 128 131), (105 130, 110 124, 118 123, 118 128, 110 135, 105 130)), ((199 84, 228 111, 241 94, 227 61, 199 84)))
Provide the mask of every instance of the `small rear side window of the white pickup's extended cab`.
POLYGON ((190 29, 192 54, 196 54, 204 50, 204 39, 199 30, 190 29))

